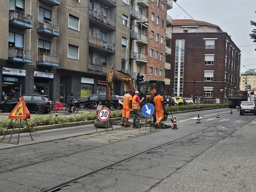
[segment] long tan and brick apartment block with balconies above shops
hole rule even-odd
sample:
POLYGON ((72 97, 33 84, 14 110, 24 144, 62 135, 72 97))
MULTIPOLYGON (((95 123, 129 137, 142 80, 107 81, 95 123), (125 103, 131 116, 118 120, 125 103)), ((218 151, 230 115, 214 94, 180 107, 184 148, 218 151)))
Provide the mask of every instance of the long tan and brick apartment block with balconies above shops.
MULTIPOLYGON (((3 95, 44 90, 65 103, 71 92, 75 98, 105 93, 109 67, 130 73, 134 81, 141 73, 170 84, 165 56, 172 2, 9 0, 0 5, 3 95)), ((114 84, 115 94, 122 95, 123 82, 114 84)))

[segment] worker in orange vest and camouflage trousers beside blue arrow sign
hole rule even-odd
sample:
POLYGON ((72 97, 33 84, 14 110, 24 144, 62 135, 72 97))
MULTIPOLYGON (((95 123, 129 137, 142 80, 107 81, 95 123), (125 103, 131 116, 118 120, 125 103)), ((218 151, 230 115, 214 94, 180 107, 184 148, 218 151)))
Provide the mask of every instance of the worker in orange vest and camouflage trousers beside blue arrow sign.
POLYGON ((135 95, 133 96, 132 108, 134 111, 134 118, 133 118, 133 128, 139 128, 141 124, 141 102, 144 100, 144 97, 140 99, 139 97, 140 92, 135 91, 135 95))

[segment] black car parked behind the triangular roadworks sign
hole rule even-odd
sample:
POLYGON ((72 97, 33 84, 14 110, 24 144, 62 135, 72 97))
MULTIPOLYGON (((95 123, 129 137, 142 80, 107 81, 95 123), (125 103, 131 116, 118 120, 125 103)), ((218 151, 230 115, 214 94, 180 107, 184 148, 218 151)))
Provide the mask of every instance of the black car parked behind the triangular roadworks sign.
POLYGON ((49 113, 51 111, 52 101, 47 95, 38 94, 26 94, 21 95, 14 100, 5 100, 0 104, 0 110, 3 112, 12 112, 17 103, 20 101, 21 97, 24 97, 24 101, 27 105, 29 112, 37 112, 38 107, 40 107, 40 113, 49 113))

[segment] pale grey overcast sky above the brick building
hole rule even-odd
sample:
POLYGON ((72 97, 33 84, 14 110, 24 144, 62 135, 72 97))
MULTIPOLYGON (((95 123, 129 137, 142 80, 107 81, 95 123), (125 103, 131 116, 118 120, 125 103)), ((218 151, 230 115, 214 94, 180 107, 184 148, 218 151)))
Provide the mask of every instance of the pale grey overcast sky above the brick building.
POLYGON ((256 43, 249 34, 256 22, 256 0, 177 0, 168 11, 173 19, 194 19, 219 26, 241 50, 240 72, 256 69, 256 43), (177 3, 177 4, 176 4, 177 3), (183 10, 185 11, 183 11, 183 10))

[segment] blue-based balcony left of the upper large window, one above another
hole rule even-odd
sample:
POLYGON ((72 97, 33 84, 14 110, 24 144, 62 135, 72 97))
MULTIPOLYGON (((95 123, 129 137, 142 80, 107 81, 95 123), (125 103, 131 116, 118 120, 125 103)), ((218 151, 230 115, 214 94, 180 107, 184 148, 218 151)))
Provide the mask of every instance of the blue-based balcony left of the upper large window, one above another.
POLYGON ((59 37, 59 25, 46 20, 38 21, 37 33, 42 33, 52 37, 59 37))

